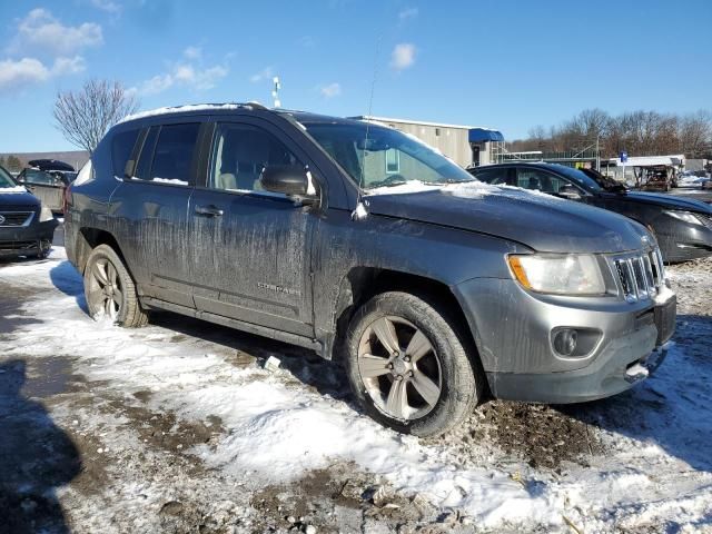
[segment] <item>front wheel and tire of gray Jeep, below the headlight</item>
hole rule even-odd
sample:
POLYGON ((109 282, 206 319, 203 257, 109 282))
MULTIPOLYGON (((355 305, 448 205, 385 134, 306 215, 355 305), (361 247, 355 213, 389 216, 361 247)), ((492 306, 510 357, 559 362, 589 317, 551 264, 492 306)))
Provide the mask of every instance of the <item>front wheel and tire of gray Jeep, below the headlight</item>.
POLYGON ((421 437, 443 434, 476 406, 483 390, 446 308, 389 291, 358 309, 346 336, 346 369, 372 418, 421 437))

